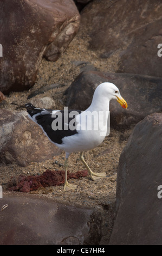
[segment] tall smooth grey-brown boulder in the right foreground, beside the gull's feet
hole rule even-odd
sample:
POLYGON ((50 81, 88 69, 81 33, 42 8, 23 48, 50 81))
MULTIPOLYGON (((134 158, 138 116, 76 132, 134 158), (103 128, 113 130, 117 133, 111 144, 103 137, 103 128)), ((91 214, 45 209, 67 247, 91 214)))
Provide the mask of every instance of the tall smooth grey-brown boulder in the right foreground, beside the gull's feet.
POLYGON ((120 156, 111 245, 162 244, 161 145, 162 114, 154 113, 134 127, 120 156))

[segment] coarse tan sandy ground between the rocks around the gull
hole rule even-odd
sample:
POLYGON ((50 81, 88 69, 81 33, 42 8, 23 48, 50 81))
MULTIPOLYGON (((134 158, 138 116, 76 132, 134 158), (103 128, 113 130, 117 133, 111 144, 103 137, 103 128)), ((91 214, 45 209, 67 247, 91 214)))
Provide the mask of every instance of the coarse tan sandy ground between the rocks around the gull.
MULTIPOLYGON (((100 51, 93 52, 87 50, 87 47, 88 38, 81 33, 77 34, 66 52, 57 62, 48 62, 46 59, 42 59, 37 81, 33 88, 21 93, 10 93, 6 99, 7 104, 3 107, 15 111, 15 106, 10 105, 10 102, 14 101, 18 104, 30 102, 30 100, 27 100, 29 94, 37 89, 42 89, 44 86, 57 83, 59 84, 57 88, 48 90, 44 94, 36 95, 32 99, 50 96, 55 101, 56 109, 62 109, 66 105, 66 96, 63 95, 64 91, 70 86, 76 76, 80 74, 80 66, 76 66, 77 62, 89 62, 100 71, 115 72, 117 69, 116 58, 118 58, 118 53, 108 59, 103 59, 100 58, 100 51)), ((105 138, 105 141, 98 148, 85 153, 85 160, 89 167, 94 172, 106 172, 106 178, 96 181, 90 180, 88 176, 79 180, 72 179, 70 182, 77 185, 75 191, 64 192, 63 186, 58 186, 41 188, 34 192, 44 197, 55 198, 59 202, 86 205, 100 211, 103 218, 102 245, 108 243, 113 227, 117 167, 121 151, 125 147, 130 133, 130 130, 121 133, 111 129, 110 135, 105 138)), ((65 154, 62 152, 61 155, 55 156, 54 159, 42 163, 31 163, 26 167, 14 164, 0 166, 0 184, 3 185, 5 190, 11 176, 42 174, 46 169, 62 170, 64 157, 65 154)), ((74 153, 70 156, 68 169, 70 172, 85 169, 79 160, 79 153, 74 153)))

